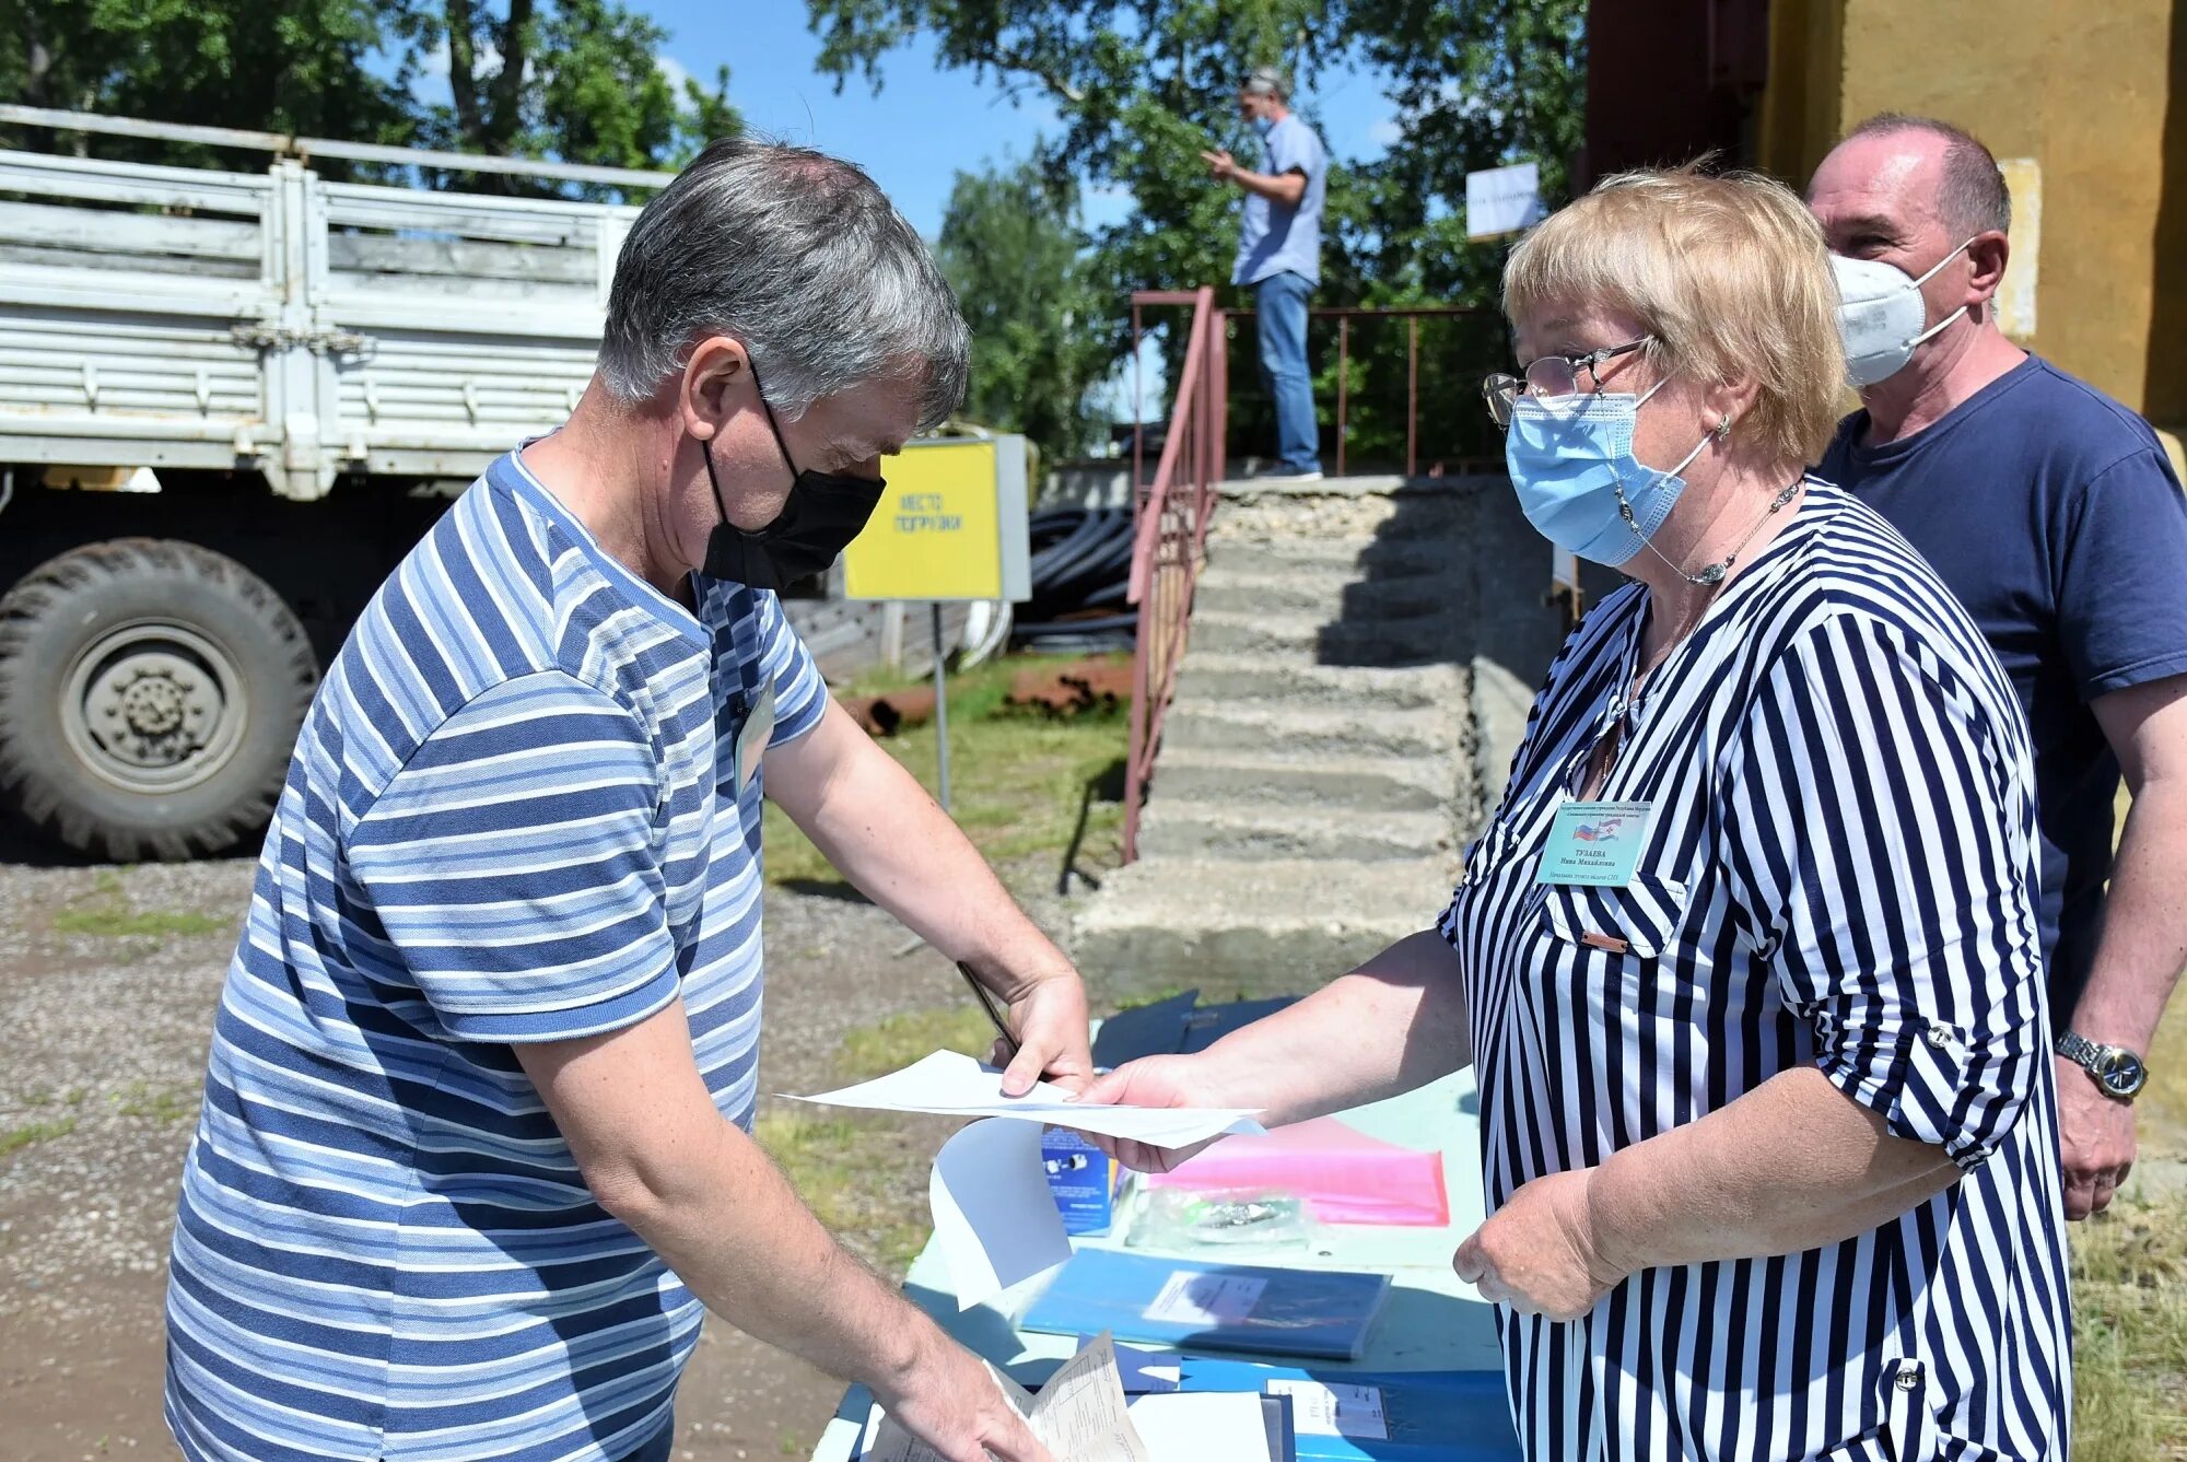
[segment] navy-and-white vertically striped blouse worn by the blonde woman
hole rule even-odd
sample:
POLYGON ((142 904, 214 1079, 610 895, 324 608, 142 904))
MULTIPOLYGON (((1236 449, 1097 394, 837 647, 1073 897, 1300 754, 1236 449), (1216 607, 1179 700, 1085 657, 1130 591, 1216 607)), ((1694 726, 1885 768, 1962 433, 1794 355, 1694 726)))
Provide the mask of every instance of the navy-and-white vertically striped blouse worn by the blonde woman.
POLYGON ((1489 1210, 1796 1066, 1964 1175, 1837 1245, 1636 1274, 1570 1324, 1500 1311, 1527 1455, 2065 1458, 2012 687, 1927 562, 1824 484, 1627 707, 1647 602, 1621 589, 1557 654, 1441 924, 1472 998, 1489 1210), (1634 878, 1542 886, 1551 816, 1621 716, 1597 799, 1653 803, 1634 878))

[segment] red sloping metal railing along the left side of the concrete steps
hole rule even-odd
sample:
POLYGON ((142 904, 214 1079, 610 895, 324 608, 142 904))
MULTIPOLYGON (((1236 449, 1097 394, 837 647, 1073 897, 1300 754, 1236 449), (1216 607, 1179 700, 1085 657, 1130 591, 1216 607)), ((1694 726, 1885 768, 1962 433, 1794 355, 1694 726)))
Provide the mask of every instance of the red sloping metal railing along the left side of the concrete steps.
POLYGON ((1190 304, 1192 326, 1177 372, 1177 409, 1153 481, 1139 471, 1139 444, 1133 442, 1131 602, 1139 606, 1139 643, 1133 654, 1131 753, 1124 762, 1124 862, 1139 856, 1139 808, 1177 692, 1177 665, 1185 659, 1192 591, 1201 578, 1216 484, 1223 481, 1229 390, 1216 291, 1137 291, 1131 295, 1135 322, 1148 304, 1190 304))

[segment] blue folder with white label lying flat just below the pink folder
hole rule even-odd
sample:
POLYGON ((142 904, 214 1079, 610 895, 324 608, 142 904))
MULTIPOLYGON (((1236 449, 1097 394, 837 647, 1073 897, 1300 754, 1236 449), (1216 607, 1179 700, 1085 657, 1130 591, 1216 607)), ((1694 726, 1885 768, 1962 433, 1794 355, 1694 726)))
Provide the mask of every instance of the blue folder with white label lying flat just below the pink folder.
MULTIPOLYGON (((1262 1269, 1078 1250, 1019 1326, 1159 1346, 1356 1359, 1389 1296, 1387 1274, 1262 1269)), ((1255 1388, 1258 1390, 1258 1388, 1255 1388)))

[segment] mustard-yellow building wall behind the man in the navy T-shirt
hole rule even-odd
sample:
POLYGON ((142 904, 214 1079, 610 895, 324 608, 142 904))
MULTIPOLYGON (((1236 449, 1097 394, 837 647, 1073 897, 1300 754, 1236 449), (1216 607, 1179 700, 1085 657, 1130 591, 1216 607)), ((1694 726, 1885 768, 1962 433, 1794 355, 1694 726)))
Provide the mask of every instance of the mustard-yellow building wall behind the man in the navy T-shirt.
POLYGON ((1804 186, 1876 112, 2034 164, 2014 171, 2040 236, 2008 269, 2034 263, 2023 344, 2187 427, 2187 0, 1771 0, 1756 160, 1804 186))

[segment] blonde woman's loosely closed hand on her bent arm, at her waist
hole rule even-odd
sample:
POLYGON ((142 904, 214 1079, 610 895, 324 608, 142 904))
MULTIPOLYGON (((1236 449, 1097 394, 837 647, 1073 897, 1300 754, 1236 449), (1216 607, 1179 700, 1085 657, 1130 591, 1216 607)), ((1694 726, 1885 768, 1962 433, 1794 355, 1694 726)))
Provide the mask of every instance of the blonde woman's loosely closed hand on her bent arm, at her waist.
POLYGON ((1450 1267, 1483 1300, 1509 1304, 1520 1315, 1586 1315, 1625 1278, 1601 1252, 1588 1204, 1590 1173, 1548 1173, 1524 1184, 1459 1245, 1450 1267))

